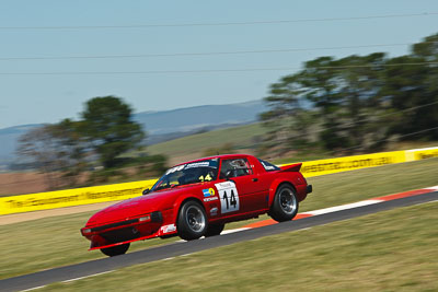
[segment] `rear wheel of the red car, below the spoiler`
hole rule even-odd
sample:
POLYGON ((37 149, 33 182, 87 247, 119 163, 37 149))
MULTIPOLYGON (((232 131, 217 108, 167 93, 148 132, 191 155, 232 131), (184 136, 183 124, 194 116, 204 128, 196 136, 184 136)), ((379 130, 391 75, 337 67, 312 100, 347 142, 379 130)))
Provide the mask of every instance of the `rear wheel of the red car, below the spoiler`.
POLYGON ((269 215, 277 222, 292 220, 298 213, 296 190, 290 185, 280 185, 275 192, 269 215))

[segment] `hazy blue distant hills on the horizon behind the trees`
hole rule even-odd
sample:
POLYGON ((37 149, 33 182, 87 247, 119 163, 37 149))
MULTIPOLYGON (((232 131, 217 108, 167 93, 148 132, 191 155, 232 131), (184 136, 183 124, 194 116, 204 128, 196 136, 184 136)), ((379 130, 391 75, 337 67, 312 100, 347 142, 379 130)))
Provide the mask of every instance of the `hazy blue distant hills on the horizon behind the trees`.
MULTIPOLYGON (((142 112, 135 114, 134 119, 142 124, 148 132, 147 143, 154 144, 194 132, 250 124, 256 121, 258 114, 265 110, 266 106, 262 101, 254 101, 161 112, 142 112)), ((0 129, 0 171, 5 164, 14 161, 19 137, 31 129, 42 126, 42 124, 33 124, 0 129)))

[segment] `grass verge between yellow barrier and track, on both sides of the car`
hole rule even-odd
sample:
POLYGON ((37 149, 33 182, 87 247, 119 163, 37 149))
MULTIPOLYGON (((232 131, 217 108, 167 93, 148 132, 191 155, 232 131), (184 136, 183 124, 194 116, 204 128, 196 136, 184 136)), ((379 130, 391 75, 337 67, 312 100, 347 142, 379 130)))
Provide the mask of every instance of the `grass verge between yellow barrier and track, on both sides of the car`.
MULTIPOLYGON (((300 211, 315 210, 372 197, 438 185, 438 157, 309 178, 314 192, 300 211)), ((0 226, 0 279, 104 257, 87 252, 89 242, 79 229, 93 212, 39 219, 0 226)), ((266 219, 261 217, 257 220, 266 219)), ((234 229, 255 220, 227 225, 234 229)), ((136 242, 129 252, 175 238, 136 242)))

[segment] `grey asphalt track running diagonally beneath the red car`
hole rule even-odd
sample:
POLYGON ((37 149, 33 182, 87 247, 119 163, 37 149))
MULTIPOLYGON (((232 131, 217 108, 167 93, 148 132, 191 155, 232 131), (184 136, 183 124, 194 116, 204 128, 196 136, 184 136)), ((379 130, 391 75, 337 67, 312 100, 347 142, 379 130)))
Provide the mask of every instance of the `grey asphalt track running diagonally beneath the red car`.
POLYGON ((0 280, 0 291, 22 291, 47 285, 53 282, 73 281, 99 273, 105 273, 137 264, 151 262, 182 255, 226 246, 239 242, 251 241, 263 236, 309 229, 335 221, 347 220, 400 207, 413 206, 438 200, 438 191, 431 191, 413 197, 383 201, 379 203, 341 210, 274 225, 249 229, 241 232, 208 237, 192 242, 176 242, 145 250, 129 253, 123 256, 102 258, 82 264, 55 268, 35 273, 0 280))

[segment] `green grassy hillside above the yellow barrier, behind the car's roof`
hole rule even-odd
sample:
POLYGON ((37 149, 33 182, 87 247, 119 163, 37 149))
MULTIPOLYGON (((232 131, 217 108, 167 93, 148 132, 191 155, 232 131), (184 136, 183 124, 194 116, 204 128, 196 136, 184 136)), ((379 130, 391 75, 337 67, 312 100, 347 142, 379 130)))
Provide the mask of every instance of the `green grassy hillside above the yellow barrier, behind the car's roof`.
POLYGON ((177 156, 200 152, 208 148, 218 148, 226 144, 227 141, 232 141, 232 145, 238 149, 252 148, 255 137, 263 136, 265 131, 266 130, 260 124, 232 127, 191 135, 150 145, 147 152, 151 154, 165 153, 168 156, 177 156))

